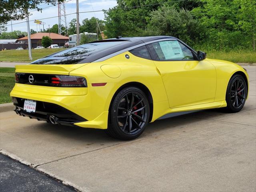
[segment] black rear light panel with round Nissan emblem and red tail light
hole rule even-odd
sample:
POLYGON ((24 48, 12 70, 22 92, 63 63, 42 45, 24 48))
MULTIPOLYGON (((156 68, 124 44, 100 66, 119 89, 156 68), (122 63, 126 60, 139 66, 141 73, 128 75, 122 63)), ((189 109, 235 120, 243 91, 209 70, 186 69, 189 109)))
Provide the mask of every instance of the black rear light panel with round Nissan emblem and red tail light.
POLYGON ((54 87, 87 87, 86 79, 78 76, 16 73, 16 83, 54 87))

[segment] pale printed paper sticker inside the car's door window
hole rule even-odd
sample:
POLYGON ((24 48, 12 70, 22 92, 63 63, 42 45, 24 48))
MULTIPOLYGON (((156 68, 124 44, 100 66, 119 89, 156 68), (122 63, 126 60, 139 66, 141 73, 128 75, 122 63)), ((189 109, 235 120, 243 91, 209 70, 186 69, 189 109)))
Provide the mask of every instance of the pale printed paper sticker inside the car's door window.
POLYGON ((166 60, 184 58, 178 41, 160 41, 159 44, 166 60))

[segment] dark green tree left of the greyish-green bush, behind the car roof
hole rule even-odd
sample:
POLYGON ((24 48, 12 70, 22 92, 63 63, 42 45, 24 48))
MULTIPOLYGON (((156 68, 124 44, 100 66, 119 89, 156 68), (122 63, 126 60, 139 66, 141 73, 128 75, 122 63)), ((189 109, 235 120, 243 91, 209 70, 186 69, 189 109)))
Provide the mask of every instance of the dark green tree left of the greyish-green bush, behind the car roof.
MULTIPOLYGON (((170 0, 168 0, 170 1, 170 0)), ((117 0, 116 8, 126 8, 132 6, 142 6, 130 9, 109 9, 104 12, 106 20, 106 36, 115 38, 116 36, 142 36, 150 20, 150 13, 157 10, 157 4, 166 0, 117 0)))

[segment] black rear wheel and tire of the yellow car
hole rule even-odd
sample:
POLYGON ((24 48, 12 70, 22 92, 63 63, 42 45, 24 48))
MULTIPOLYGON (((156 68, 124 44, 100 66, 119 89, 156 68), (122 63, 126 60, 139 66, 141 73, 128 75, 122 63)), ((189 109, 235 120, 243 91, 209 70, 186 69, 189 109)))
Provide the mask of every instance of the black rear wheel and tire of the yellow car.
POLYGON ((145 130, 149 116, 150 107, 144 92, 136 87, 124 88, 112 101, 106 132, 121 140, 135 139, 145 130))

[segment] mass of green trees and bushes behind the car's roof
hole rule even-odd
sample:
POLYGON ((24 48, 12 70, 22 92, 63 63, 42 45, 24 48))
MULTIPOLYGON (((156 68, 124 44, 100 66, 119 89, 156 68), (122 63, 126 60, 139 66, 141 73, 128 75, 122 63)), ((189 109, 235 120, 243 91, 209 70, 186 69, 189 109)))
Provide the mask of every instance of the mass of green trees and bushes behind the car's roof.
POLYGON ((105 11, 104 34, 116 36, 171 35, 190 45, 212 50, 255 50, 256 0, 117 0, 105 11), (127 8, 142 6, 138 8, 127 8))

